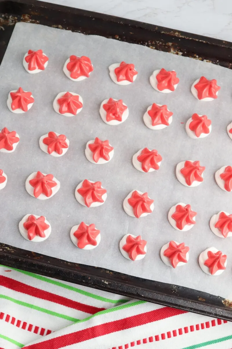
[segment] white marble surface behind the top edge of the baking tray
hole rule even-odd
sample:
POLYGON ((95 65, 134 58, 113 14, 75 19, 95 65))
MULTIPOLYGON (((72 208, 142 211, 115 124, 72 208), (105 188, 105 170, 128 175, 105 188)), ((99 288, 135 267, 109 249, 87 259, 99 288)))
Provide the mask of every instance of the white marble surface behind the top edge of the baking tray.
POLYGON ((50 0, 232 41, 232 0, 50 0))

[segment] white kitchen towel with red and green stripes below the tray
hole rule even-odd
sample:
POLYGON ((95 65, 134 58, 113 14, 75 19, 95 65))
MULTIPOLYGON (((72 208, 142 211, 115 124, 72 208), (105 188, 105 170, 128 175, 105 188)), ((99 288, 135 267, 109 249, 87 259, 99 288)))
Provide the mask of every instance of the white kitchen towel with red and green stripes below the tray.
POLYGON ((232 323, 0 266, 0 349, 232 348, 232 323))

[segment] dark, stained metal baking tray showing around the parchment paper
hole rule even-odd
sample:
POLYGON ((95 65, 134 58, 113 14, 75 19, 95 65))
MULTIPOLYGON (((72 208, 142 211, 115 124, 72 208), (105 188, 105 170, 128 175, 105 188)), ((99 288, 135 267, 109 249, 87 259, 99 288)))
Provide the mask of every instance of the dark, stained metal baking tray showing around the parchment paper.
MULTIPOLYGON (((40 1, 0 0, 0 62, 14 25, 47 25, 95 34, 231 68, 232 43, 152 24, 40 1)), ((0 232, 1 234, 1 232, 0 232)), ((151 281, 104 268, 70 263, 0 243, 0 263, 128 297, 232 321, 232 302, 178 285, 151 281)))

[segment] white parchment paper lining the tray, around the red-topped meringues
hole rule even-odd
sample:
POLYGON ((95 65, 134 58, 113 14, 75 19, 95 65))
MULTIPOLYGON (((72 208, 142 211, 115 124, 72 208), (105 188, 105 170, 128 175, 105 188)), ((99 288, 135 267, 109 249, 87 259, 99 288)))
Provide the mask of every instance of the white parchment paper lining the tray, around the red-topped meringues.
POLYGON ((232 298, 232 239, 219 238, 209 228, 213 214, 221 210, 232 213, 232 193, 222 191, 214 180, 216 170, 232 165, 232 141, 226 133, 232 120, 231 81, 231 70, 208 62, 99 36, 17 23, 0 66, 0 128, 15 130, 21 137, 14 153, 0 153, 0 168, 8 176, 7 186, 0 191, 0 241, 71 262, 232 298), (25 71, 22 60, 29 49, 42 49, 48 55, 45 72, 25 71), (64 75, 63 65, 71 54, 91 58, 94 72, 89 79, 73 82, 64 75), (129 86, 119 86, 109 77, 109 65, 122 60, 133 62, 138 70, 135 83, 129 86), (150 86, 153 70, 162 67, 175 69, 180 79, 171 94, 150 86), (221 86, 217 100, 200 102, 192 96, 190 87, 201 75, 216 79, 221 86), (19 86, 31 91, 35 102, 29 112, 13 114, 7 108, 7 96, 19 86), (53 110, 54 98, 61 91, 82 96, 80 114, 67 118, 53 110), (129 117, 121 125, 106 125, 99 115, 101 102, 110 97, 123 99, 129 108, 129 117), (143 114, 152 103, 167 104, 174 113, 169 127, 153 131, 144 125, 143 114), (206 138, 194 140, 185 132, 185 122, 194 112, 212 120, 212 132, 206 138), (64 156, 49 156, 39 148, 40 136, 49 131, 63 133, 70 140, 64 156), (85 157, 86 143, 96 136, 109 139, 114 147, 108 164, 95 165, 85 157), (159 171, 142 173, 132 165, 132 156, 144 147, 157 149, 162 155, 159 171), (187 159, 206 166, 204 181, 198 187, 185 187, 176 179, 176 164, 187 159), (25 190, 26 178, 38 170, 52 173, 61 182, 59 192, 45 201, 32 198, 25 190), (88 209, 75 200, 74 190, 83 179, 102 181, 107 189, 104 205, 88 209), (136 219, 125 213, 122 203, 131 190, 148 192, 154 199, 152 214, 136 219), (190 231, 177 231, 168 222, 168 210, 177 202, 190 203, 198 213, 190 231), (46 216, 52 227, 46 241, 23 239, 18 223, 25 214, 46 216), (94 250, 82 251, 71 242, 70 229, 81 221, 95 223, 101 230, 101 243, 94 250), (132 262, 122 257, 119 241, 126 233, 140 234, 147 240, 143 260, 132 262), (173 269, 161 261, 160 248, 170 240, 190 247, 186 266, 173 269), (227 254, 227 268, 217 277, 206 275, 198 265, 199 254, 210 246, 227 254))

